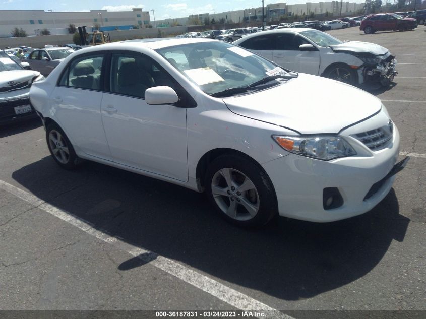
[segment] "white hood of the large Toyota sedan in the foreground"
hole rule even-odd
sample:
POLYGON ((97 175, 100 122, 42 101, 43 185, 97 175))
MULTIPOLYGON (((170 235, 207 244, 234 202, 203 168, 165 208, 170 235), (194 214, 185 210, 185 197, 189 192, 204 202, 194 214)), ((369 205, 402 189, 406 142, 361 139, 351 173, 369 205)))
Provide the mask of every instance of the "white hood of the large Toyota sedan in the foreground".
POLYGON ((233 113, 300 134, 337 134, 382 107, 382 102, 370 93, 303 73, 270 89, 223 101, 233 113))

